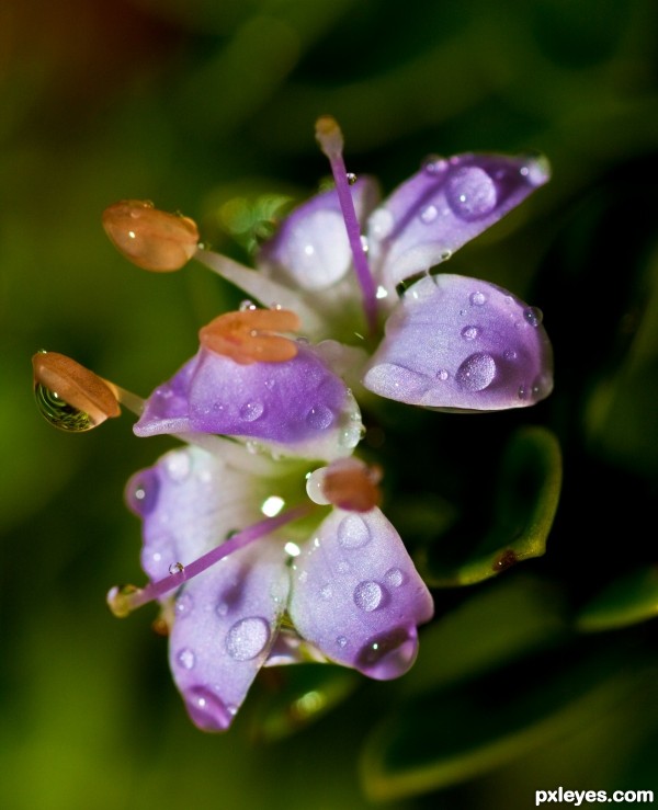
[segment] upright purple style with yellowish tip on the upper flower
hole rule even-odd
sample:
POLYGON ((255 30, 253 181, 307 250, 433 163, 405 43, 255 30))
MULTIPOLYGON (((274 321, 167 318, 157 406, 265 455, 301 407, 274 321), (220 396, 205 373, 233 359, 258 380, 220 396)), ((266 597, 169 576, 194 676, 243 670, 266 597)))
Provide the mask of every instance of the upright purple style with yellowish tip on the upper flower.
POLYGON ((318 118, 316 122, 316 138, 320 145, 320 149, 329 158, 331 173, 336 183, 336 192, 345 221, 352 258, 354 259, 354 272, 356 273, 356 279, 363 296, 363 311, 365 312, 368 329, 374 334, 377 329, 375 283, 365 256, 363 242, 361 241, 361 227, 356 217, 356 210, 354 209, 354 201, 350 193, 350 181, 342 156, 343 136, 337 121, 330 115, 324 115, 318 118))

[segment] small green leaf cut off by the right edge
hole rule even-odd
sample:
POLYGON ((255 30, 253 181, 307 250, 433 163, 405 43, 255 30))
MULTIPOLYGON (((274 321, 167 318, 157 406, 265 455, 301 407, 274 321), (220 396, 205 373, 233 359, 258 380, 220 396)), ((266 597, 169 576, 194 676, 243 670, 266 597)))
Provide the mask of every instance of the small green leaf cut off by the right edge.
POLYGON ((647 566, 615 580, 578 614, 579 630, 613 630, 658 616, 658 568, 647 566))

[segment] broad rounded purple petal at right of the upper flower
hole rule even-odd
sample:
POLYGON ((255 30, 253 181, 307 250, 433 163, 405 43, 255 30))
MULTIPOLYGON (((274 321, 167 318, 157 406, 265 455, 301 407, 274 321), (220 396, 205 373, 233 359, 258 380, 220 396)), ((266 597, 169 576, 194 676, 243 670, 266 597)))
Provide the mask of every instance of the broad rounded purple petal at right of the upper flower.
POLYGON ((494 284, 439 274, 413 284, 386 323, 364 386, 428 408, 496 411, 553 388, 540 310, 494 284))

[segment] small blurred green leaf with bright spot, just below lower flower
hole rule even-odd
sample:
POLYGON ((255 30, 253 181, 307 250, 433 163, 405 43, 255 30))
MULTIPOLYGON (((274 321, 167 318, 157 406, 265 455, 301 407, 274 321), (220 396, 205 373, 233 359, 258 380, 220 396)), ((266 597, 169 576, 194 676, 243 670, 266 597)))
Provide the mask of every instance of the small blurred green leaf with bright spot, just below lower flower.
POLYGON ((332 664, 273 668, 262 675, 273 688, 256 708, 253 734, 268 742, 290 737, 322 717, 361 681, 352 670, 332 664))

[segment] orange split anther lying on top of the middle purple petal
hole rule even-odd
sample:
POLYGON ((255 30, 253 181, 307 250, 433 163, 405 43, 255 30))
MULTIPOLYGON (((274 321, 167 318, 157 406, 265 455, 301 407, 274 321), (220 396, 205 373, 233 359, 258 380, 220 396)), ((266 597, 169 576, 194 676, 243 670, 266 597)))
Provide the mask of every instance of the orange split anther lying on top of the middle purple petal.
POLYGON ((243 309, 220 315, 198 332, 201 345, 236 363, 283 363, 297 344, 279 332, 295 332, 299 318, 288 309, 243 309))

